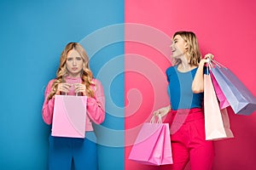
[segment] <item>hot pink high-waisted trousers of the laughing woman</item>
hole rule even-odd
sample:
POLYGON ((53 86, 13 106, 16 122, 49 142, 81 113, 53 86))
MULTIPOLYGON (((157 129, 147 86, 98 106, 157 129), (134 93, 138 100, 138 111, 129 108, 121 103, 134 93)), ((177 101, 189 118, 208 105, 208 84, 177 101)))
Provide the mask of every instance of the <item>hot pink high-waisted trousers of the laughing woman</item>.
POLYGON ((189 161, 191 170, 211 170, 214 150, 212 141, 206 140, 203 111, 171 111, 164 122, 170 126, 173 164, 160 170, 183 170, 189 161))

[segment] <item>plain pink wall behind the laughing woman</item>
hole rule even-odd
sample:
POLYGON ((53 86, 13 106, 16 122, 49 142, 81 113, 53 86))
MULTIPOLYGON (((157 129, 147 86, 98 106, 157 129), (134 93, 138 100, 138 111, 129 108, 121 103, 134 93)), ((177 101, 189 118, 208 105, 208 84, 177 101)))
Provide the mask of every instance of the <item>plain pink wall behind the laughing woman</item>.
MULTIPOLYGON (((230 68, 256 96, 255 16, 256 2, 253 0, 125 1, 125 23, 153 26, 166 33, 168 37, 172 37, 175 31, 194 31, 199 40, 201 53, 214 54, 215 59, 230 68)), ((125 28, 125 38, 130 37, 130 33, 134 32, 125 28)), ((138 31, 137 35, 142 33, 143 31, 138 31)), ((148 34, 148 37, 157 38, 154 34, 148 34)), ((165 76, 166 68, 171 65, 168 60, 168 46, 171 42, 158 43, 164 47, 163 53, 143 43, 125 42, 125 70, 132 70, 125 72, 125 105, 128 105, 125 108, 127 145, 135 139, 137 127, 148 120, 152 111, 168 104, 167 82, 162 77, 165 76), (157 65, 158 71, 152 72, 151 75, 148 72, 144 74, 143 71, 146 70, 140 71, 141 67, 145 67, 143 59, 157 65), (150 81, 152 78, 158 84, 156 88, 155 82, 150 81), (132 91, 132 88, 136 88, 137 91, 132 91), (136 104, 137 111, 129 107, 135 105, 132 104, 132 99, 137 99, 136 102, 140 104, 136 104)), ((256 114, 254 112, 251 116, 238 116, 229 110, 229 115, 235 139, 215 142, 216 156, 213 169, 256 169, 256 114)), ((130 150, 131 146, 125 147, 125 169, 157 169, 128 160, 130 150)))

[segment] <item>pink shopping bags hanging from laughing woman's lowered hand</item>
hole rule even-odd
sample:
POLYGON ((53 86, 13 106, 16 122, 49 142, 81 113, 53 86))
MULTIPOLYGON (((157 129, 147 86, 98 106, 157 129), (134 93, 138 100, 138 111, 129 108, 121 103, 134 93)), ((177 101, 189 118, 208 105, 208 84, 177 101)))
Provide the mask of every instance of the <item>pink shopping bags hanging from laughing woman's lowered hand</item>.
POLYGON ((148 165, 172 164, 168 123, 144 123, 131 149, 129 159, 148 165))

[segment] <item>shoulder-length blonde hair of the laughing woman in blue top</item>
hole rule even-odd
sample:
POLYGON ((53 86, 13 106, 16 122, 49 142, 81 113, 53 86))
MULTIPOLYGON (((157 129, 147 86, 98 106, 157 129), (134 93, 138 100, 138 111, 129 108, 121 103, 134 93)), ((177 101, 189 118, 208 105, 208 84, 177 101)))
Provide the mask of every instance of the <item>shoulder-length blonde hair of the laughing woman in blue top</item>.
MULTIPOLYGON (((182 37, 183 40, 188 43, 187 54, 189 55, 189 65, 198 66, 201 60, 201 53, 195 33, 192 31, 177 31, 174 33, 172 39, 177 35, 182 37)), ((172 65, 178 65, 180 62, 180 59, 174 59, 172 65)))

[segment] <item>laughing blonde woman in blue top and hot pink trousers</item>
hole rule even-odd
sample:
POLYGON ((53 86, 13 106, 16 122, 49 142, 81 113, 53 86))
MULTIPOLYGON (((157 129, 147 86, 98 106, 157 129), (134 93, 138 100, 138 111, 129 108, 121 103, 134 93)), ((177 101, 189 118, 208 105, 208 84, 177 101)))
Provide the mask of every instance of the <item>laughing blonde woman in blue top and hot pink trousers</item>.
POLYGON ((160 170, 182 170, 190 161, 191 170, 211 170, 212 141, 206 141, 202 109, 207 54, 201 53, 195 33, 177 31, 172 37, 173 66, 166 70, 170 105, 154 111, 166 116, 171 130, 173 164, 160 170))

